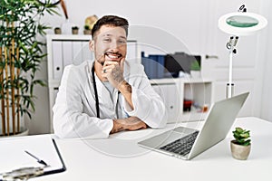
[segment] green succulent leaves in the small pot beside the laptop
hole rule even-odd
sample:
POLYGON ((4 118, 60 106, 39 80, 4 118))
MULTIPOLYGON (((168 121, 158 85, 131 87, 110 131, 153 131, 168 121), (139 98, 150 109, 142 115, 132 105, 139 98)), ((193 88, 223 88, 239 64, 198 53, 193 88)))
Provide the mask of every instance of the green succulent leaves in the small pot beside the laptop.
POLYGON ((233 133, 233 137, 235 138, 235 143, 242 146, 250 145, 250 130, 236 128, 233 133))

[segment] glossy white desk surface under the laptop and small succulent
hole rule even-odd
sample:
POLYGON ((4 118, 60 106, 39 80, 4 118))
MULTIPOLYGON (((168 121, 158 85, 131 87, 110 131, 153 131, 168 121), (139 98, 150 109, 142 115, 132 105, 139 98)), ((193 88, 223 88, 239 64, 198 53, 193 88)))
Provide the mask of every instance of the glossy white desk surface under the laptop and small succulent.
MULTIPOLYGON (((188 126, 195 128, 201 124, 189 123, 188 126)), ((271 180, 272 123, 242 118, 237 119, 236 126, 251 130, 252 149, 247 161, 231 157, 230 132, 228 138, 216 146, 185 161, 137 146, 143 135, 151 136, 149 133, 153 130, 147 129, 122 132, 102 140, 57 139, 67 170, 33 180, 271 180)), ((156 131, 151 134, 165 129, 156 131)))

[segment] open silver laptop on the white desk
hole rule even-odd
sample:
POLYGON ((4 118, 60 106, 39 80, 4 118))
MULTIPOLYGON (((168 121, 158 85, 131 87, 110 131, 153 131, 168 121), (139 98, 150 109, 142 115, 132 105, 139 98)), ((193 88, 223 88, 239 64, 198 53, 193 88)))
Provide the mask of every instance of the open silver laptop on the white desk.
POLYGON ((201 130, 178 127, 138 142, 143 148, 191 159, 227 137, 249 92, 213 104, 201 130))

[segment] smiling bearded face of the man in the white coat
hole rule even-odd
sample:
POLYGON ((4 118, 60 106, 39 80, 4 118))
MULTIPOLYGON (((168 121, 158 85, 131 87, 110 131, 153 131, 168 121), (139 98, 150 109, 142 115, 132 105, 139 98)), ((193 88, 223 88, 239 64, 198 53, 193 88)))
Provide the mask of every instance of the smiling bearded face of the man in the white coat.
POLYGON ((126 56, 127 37, 120 26, 102 25, 92 43, 95 59, 102 65, 105 61, 121 62, 126 56))

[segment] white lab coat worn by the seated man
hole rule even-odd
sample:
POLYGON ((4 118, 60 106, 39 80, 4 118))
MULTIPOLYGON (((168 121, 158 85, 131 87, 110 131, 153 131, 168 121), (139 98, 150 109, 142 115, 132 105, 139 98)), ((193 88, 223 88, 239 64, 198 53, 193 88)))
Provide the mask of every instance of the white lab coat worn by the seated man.
POLYGON ((151 128, 166 125, 165 106, 160 96, 152 89, 141 64, 124 63, 124 79, 132 87, 134 110, 119 94, 110 92, 95 74, 100 117, 96 117, 95 94, 92 82, 93 62, 68 65, 53 106, 53 130, 60 138, 108 138, 113 127, 112 119, 127 115, 143 120, 151 128), (117 109, 116 105, 121 108, 117 109), (116 113, 118 112, 118 114, 116 113))

